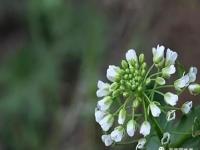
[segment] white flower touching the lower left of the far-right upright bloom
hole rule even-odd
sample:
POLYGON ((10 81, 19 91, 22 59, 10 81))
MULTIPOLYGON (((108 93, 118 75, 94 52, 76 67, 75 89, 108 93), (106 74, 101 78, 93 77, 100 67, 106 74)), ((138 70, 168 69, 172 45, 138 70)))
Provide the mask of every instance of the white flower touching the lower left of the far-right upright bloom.
POLYGON ((187 87, 189 85, 189 81, 190 81, 189 76, 184 75, 180 79, 174 82, 174 87, 175 89, 180 91, 182 88, 187 87))

